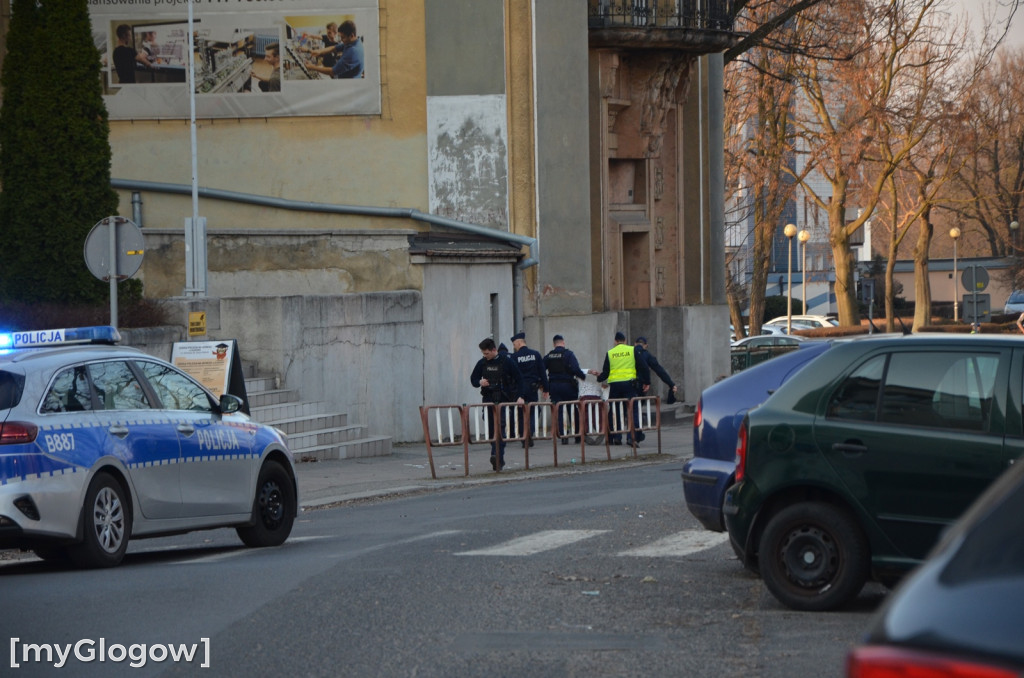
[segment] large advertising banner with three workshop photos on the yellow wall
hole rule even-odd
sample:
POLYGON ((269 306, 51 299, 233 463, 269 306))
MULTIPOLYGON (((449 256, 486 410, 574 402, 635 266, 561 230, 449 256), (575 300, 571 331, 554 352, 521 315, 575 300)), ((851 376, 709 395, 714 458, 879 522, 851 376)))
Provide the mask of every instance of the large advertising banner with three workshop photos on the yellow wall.
MULTIPOLYGON (((188 118, 187 0, 89 0, 112 120, 188 118)), ((198 118, 381 111, 377 0, 193 0, 198 118)))

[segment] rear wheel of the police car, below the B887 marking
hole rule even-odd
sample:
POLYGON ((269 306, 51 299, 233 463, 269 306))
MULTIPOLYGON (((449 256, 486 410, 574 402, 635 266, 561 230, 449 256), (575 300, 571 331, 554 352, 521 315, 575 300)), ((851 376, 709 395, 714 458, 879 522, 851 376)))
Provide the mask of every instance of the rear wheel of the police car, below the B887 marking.
POLYGON ((124 558, 131 536, 131 507, 124 488, 108 473, 97 473, 82 507, 82 542, 68 549, 80 567, 113 567, 124 558))

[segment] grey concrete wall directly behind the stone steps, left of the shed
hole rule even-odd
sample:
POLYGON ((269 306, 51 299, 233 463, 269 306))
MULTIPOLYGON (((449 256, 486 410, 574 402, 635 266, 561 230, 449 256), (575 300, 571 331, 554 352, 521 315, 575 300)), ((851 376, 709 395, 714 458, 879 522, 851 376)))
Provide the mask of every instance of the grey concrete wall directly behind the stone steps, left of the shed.
MULTIPOLYGON (((283 387, 299 390, 304 400, 333 404, 371 434, 391 435, 396 442, 422 439, 418 291, 170 303, 181 317, 188 310, 207 311, 205 338, 237 339, 254 375, 280 376, 283 387)), ((155 344, 144 349, 163 350, 155 344)), ((161 357, 169 355, 168 347, 161 357)))

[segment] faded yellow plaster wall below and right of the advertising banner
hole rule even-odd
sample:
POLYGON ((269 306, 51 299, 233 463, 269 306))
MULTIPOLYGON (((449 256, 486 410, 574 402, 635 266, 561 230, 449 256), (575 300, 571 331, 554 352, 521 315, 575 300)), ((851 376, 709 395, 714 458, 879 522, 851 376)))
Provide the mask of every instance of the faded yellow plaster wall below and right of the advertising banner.
MULTIPOLYGON (((202 187, 313 203, 426 210, 422 0, 380 0, 381 115, 197 121, 202 187)), ((112 121, 114 178, 190 185, 188 120, 112 121)), ((189 196, 142 195, 143 225, 183 228, 189 196)), ((121 192, 131 215, 131 193, 121 192)), ((209 229, 422 228, 410 220, 315 214, 200 198, 209 229)))

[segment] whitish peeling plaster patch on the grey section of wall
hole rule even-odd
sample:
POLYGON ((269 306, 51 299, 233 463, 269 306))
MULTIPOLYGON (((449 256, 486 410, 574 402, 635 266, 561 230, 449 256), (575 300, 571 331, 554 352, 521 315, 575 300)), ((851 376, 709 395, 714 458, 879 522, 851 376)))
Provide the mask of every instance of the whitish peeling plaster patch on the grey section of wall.
POLYGON ((505 96, 427 98, 430 211, 508 230, 505 96))

